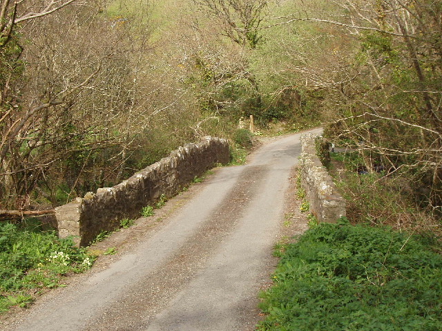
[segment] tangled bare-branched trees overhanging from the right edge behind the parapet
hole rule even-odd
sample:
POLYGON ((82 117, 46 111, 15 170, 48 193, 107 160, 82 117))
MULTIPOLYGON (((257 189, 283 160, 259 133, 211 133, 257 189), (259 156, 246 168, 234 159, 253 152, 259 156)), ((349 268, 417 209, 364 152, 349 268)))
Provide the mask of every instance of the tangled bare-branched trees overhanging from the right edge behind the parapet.
MULTIPOLYGON (((363 143, 367 168, 403 171, 430 208, 442 205, 442 6, 428 0, 334 1, 336 16, 299 11, 282 23, 316 22, 348 39, 327 90, 329 134, 363 143), (347 63, 347 64, 345 64, 347 63), (338 69, 338 70, 336 70, 338 69)), ((339 48, 338 50, 339 51, 339 48)), ((335 50, 333 50, 335 52, 335 50)), ((325 54, 323 59, 330 57, 325 54)), ((327 63, 327 61, 324 61, 327 63)), ((332 67, 329 67, 332 68, 332 67)), ((327 70, 322 70, 325 72, 327 70)))

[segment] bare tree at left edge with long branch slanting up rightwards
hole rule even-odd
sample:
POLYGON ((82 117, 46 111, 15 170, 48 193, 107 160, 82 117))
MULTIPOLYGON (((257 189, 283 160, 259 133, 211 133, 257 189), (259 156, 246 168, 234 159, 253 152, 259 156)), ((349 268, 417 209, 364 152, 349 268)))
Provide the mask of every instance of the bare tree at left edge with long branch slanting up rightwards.
MULTIPOLYGON (((26 111, 22 111, 17 99, 19 90, 17 84, 21 81, 24 72, 24 63, 21 61, 23 47, 19 35, 19 25, 28 23, 37 18, 46 17, 67 7, 73 0, 66 1, 12 1, 2 0, 0 9, 0 130, 2 132, 0 141, 0 191, 6 199, 10 198, 13 176, 17 171, 10 167, 8 152, 17 139, 23 128, 30 119, 37 113, 57 106, 65 102, 66 98, 82 86, 86 85, 91 77, 86 77, 77 86, 60 91, 51 99, 39 104, 31 103, 26 111), (17 94, 18 93, 18 94, 17 94)), ((17 185, 15 185, 17 188, 17 185)), ((20 203, 19 203, 20 204, 20 203)))

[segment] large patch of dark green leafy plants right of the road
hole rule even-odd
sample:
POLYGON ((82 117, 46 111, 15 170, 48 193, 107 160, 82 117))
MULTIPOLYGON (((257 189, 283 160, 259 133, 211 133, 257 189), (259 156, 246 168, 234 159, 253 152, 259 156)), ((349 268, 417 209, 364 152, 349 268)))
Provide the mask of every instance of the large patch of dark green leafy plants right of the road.
POLYGON ((346 219, 316 225, 280 253, 258 330, 442 330, 434 244, 346 219))

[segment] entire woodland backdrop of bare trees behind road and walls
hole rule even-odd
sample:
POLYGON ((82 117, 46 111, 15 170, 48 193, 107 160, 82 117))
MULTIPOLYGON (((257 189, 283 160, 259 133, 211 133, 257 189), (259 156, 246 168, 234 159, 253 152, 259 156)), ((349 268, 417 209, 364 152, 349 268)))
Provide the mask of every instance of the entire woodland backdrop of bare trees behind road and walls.
POLYGON ((230 139, 235 161, 253 141, 240 127, 252 114, 261 134, 322 125, 347 148, 335 175, 352 221, 440 219, 440 1, 0 10, 0 210, 64 204, 204 135, 230 139))

